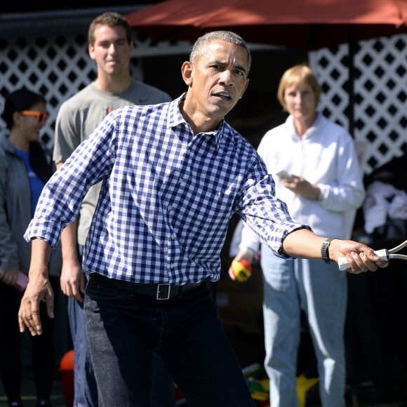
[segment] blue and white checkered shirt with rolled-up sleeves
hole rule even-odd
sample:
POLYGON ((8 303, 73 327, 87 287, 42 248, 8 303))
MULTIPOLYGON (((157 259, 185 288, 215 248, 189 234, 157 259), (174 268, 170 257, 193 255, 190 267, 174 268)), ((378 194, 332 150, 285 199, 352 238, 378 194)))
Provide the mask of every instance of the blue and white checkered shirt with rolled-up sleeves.
POLYGON ((46 184, 25 239, 55 247, 89 187, 103 180, 86 273, 138 283, 218 281, 233 213, 287 257, 283 238, 307 226, 293 222, 262 159, 225 121, 194 135, 180 113, 182 96, 109 114, 46 184))

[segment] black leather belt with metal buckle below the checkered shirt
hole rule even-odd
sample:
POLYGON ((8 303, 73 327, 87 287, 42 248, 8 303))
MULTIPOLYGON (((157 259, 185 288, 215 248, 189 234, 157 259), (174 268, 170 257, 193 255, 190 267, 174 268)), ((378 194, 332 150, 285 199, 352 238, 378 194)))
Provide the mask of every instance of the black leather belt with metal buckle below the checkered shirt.
POLYGON ((102 274, 92 273, 91 280, 98 281, 108 286, 120 288, 124 291, 131 291, 142 295, 154 296, 157 300, 168 300, 169 298, 179 297, 182 293, 198 288, 201 283, 186 283, 183 286, 174 286, 172 284, 147 284, 131 283, 130 281, 109 279, 102 274))

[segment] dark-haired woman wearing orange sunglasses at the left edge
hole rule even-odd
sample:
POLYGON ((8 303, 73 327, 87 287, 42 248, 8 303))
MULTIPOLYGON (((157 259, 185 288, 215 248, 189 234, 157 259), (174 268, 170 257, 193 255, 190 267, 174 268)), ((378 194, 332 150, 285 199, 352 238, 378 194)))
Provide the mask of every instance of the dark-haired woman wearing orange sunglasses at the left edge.
MULTIPOLYGON (((0 377, 8 405, 20 407, 22 334, 18 328, 18 309, 23 288, 16 288, 16 283, 21 272, 28 273, 31 257, 31 245, 22 235, 53 167, 39 142, 48 117, 43 95, 25 88, 14 91, 6 98, 2 117, 8 135, 0 137, 0 377)), ((59 291, 61 265, 57 250, 50 262, 54 293, 59 291)), ((37 406, 51 406, 55 374, 53 319, 46 315, 45 302, 41 321, 44 334, 31 337, 32 369, 37 406)))

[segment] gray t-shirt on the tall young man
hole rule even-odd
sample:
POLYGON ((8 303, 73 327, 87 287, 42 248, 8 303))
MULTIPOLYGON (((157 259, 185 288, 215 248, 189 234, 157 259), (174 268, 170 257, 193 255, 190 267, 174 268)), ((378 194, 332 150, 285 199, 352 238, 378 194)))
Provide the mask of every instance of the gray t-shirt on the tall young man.
MULTIPOLYGON (((170 102, 168 93, 154 86, 133 80, 122 93, 100 91, 90 84, 62 103, 55 124, 55 164, 65 162, 85 138, 105 119, 105 116, 126 105, 155 105, 170 102)), ((78 243, 84 245, 95 213, 101 183, 94 185, 82 201, 78 222, 78 243)))

